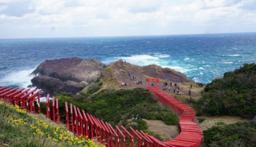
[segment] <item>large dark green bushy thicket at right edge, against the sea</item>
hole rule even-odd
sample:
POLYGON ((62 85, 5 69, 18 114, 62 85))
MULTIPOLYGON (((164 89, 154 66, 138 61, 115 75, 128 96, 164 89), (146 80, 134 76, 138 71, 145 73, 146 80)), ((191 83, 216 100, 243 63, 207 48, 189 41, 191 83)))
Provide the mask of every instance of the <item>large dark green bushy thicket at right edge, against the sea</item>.
POLYGON ((199 100, 203 112, 212 115, 239 115, 252 118, 256 114, 256 64, 244 64, 223 78, 207 84, 199 100))

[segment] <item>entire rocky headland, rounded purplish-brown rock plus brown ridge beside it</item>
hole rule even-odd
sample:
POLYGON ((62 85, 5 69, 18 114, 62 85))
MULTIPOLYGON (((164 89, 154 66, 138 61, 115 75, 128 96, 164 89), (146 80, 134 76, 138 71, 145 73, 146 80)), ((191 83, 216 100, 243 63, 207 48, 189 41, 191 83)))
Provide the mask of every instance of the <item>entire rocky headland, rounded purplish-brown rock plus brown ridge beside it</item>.
POLYGON ((194 82, 185 74, 158 65, 137 66, 118 60, 106 67, 96 59, 83 60, 77 57, 46 60, 32 74, 37 75, 31 80, 32 86, 42 89, 44 94, 67 92, 75 95, 94 83, 98 77, 103 79, 105 89, 116 89, 122 82, 127 83, 128 87, 147 88, 147 84, 135 85, 127 78, 127 74, 143 83, 146 83, 147 77, 159 77, 173 82, 194 82))

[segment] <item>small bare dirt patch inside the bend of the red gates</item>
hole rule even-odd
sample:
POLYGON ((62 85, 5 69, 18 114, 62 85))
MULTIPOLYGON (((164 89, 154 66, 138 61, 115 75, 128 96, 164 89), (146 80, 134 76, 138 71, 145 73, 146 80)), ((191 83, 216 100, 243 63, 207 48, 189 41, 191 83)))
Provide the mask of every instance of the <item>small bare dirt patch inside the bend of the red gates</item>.
POLYGON ((149 130, 164 133, 167 136, 169 136, 170 139, 173 139, 179 135, 178 127, 176 125, 166 125, 165 123, 159 120, 143 120, 148 123, 149 130))

